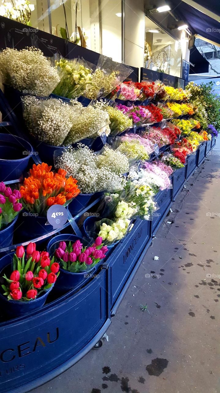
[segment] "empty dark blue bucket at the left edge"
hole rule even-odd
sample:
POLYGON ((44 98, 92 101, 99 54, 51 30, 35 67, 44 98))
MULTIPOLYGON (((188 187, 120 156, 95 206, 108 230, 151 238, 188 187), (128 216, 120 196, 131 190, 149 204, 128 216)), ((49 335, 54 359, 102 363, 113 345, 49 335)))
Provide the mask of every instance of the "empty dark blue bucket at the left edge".
POLYGON ((0 182, 19 179, 31 158, 33 148, 22 138, 0 134, 0 182))

